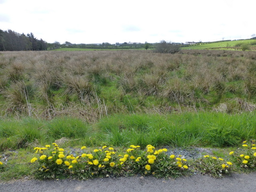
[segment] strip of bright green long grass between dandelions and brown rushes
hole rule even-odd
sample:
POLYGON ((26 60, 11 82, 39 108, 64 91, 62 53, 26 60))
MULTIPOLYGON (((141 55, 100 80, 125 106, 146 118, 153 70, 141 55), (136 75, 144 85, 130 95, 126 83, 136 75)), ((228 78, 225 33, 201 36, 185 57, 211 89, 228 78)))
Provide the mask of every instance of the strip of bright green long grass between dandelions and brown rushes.
POLYGON ((24 118, 0 122, 0 150, 16 150, 66 139, 64 146, 237 146, 256 138, 255 113, 215 112, 115 115, 88 124, 77 118, 24 118))

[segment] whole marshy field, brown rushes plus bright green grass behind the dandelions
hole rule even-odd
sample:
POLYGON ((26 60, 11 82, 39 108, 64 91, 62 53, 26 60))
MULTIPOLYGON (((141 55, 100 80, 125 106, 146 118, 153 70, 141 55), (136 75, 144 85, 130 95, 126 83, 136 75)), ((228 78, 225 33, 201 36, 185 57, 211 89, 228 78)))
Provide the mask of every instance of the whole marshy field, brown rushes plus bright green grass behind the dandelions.
POLYGON ((255 109, 254 51, 0 52, 5 157, 56 141, 232 148, 256 138, 255 109))

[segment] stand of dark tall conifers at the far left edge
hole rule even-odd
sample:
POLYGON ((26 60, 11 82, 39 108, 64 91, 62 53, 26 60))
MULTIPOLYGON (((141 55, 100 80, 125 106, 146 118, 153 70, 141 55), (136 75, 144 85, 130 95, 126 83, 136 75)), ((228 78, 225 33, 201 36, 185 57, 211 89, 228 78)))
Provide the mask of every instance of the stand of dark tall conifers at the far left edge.
POLYGON ((19 34, 12 30, 0 29, 0 51, 47 50, 48 43, 38 40, 34 34, 19 34))

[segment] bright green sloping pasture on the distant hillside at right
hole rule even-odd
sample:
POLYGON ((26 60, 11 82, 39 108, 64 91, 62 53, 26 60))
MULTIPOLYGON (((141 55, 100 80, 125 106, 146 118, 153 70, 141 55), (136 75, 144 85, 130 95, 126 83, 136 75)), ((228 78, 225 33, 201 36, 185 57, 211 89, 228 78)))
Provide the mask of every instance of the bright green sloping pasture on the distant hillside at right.
MULTIPOLYGON (((182 50, 190 50, 190 49, 218 49, 225 48, 225 50, 239 50, 240 44, 250 44, 255 43, 256 40, 236 40, 236 41, 224 41, 224 42, 216 42, 216 43, 202 43, 194 46, 182 47, 182 50), (239 45, 239 46, 236 46, 239 45)), ((251 46, 252 50, 255 50, 255 44, 251 46)), ((240 49, 241 50, 241 49, 240 49)))

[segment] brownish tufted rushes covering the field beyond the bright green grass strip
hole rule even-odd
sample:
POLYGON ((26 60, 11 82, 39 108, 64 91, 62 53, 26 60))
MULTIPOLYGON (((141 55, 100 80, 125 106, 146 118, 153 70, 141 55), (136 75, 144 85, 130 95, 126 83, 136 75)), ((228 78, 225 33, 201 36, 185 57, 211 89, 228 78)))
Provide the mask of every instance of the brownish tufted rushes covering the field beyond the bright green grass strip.
POLYGON ((37 116, 65 114, 88 119, 131 110, 168 112, 170 105, 178 110, 198 110, 202 104, 218 108, 227 93, 254 103, 255 76, 252 51, 1 52, 0 91, 4 98, 0 108, 22 107, 28 114, 32 110, 28 111, 28 106, 34 106, 37 116), (24 100, 22 82, 33 87, 34 94, 27 95, 30 102, 24 100), (137 101, 132 101, 131 95, 137 101), (161 102, 158 106, 145 104, 147 96, 161 102), (205 96, 217 99, 213 102, 205 96))

